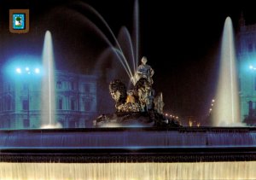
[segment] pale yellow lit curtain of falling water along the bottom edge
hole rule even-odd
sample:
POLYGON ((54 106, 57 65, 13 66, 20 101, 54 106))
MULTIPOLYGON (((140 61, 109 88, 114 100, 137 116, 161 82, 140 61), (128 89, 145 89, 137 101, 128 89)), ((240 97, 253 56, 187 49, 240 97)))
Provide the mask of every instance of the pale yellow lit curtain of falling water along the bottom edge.
POLYGON ((255 161, 201 163, 0 163, 0 179, 255 179, 255 161))

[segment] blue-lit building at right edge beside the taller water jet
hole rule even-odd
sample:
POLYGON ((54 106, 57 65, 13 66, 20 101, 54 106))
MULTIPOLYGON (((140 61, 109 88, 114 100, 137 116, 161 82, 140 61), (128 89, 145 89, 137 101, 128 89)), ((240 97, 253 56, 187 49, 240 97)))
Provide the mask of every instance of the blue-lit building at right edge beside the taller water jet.
POLYGON ((236 40, 241 119, 256 125, 256 24, 246 26, 242 15, 236 40))

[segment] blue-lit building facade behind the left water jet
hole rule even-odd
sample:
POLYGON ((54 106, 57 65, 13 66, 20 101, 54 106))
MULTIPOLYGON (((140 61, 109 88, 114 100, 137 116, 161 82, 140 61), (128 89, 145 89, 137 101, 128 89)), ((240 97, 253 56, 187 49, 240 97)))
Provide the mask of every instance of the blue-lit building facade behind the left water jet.
MULTIPOLYGON (((37 74, 15 78, 2 75, 0 129, 41 126, 41 87, 37 74)), ((96 76, 55 72, 55 120, 63 128, 92 126, 96 102, 96 76)))

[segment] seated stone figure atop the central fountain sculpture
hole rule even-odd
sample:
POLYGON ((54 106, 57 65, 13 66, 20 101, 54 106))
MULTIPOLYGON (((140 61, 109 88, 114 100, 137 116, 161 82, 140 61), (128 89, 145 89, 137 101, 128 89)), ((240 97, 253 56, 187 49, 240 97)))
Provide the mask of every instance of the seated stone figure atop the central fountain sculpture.
POLYGON ((146 78, 149 84, 153 84, 152 76, 154 75, 154 70, 147 64, 147 57, 143 56, 142 64, 137 67, 137 80, 140 78, 146 78))

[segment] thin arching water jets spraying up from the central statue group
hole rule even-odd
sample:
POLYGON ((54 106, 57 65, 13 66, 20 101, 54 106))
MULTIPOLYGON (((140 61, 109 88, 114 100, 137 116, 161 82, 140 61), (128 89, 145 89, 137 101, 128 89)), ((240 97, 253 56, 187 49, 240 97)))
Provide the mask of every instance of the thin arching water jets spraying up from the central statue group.
MULTIPOLYGON (((116 36, 113 33, 113 30, 108 25, 108 22, 102 17, 102 15, 96 11, 93 7, 91 7, 87 3, 75 3, 79 9, 77 11, 72 11, 73 14, 78 16, 78 19, 84 21, 88 26, 92 27, 94 32, 98 35, 99 38, 108 44, 108 48, 103 50, 101 55, 99 55, 94 70, 96 74, 101 71, 102 64, 106 62, 106 57, 108 55, 112 55, 113 61, 115 61, 114 65, 121 65, 119 68, 119 72, 128 77, 128 80, 131 84, 136 84, 137 79, 134 77, 134 74, 137 72, 137 64, 138 64, 138 44, 139 44, 139 31, 138 31, 138 2, 135 1, 134 6, 134 26, 132 29, 132 35, 128 31, 126 26, 122 26, 119 30, 119 35, 116 36), (80 11, 80 12, 79 12, 80 11), (102 29, 97 25, 96 22, 91 21, 86 16, 84 16, 84 11, 90 12, 94 15, 97 23, 101 23, 101 27, 104 26, 107 32, 102 32, 102 29), (112 42, 113 41, 113 42, 112 42)), ((117 69, 118 70, 118 69, 117 69)), ((110 74, 110 72, 108 72, 110 74)), ((126 77, 126 78, 127 78, 126 77)))

